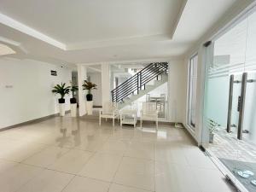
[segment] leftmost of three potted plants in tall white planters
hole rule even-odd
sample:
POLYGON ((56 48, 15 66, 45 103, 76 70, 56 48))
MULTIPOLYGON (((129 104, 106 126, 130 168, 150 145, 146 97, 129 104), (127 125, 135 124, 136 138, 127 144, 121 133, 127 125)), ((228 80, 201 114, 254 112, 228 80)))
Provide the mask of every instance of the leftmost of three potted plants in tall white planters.
POLYGON ((59 101, 59 107, 60 107, 60 115, 64 116, 65 115, 65 98, 64 96, 69 93, 70 86, 66 86, 66 84, 61 83, 61 84, 56 84, 51 90, 55 95, 59 94, 61 95, 61 98, 58 99, 59 101))

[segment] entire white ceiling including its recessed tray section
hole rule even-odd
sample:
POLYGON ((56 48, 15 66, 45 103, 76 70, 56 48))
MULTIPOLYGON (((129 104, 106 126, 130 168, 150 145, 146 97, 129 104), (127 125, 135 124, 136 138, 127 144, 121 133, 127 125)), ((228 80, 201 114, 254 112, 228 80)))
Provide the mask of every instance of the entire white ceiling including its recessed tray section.
POLYGON ((0 0, 0 43, 61 64, 183 56, 239 0, 0 0))

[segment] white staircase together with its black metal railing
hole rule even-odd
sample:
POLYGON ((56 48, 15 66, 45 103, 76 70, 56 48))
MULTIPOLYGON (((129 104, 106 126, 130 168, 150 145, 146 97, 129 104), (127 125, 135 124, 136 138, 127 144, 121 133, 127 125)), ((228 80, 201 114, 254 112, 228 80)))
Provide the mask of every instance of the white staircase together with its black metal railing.
POLYGON ((119 84, 118 87, 111 91, 112 101, 119 102, 119 109, 124 108, 141 96, 145 96, 149 91, 166 83, 168 79, 167 73, 167 62, 148 64, 139 73, 127 79, 123 84, 119 84), (154 84, 148 84, 152 80, 154 80, 154 84))

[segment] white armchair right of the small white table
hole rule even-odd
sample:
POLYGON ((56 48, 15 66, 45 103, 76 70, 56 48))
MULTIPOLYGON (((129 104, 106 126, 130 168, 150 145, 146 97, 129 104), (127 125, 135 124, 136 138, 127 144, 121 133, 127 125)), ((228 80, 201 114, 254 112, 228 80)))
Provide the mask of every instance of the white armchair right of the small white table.
POLYGON ((156 109, 156 102, 143 102, 143 109, 141 111, 141 128, 143 129, 143 120, 154 120, 156 130, 158 130, 158 111, 156 109))

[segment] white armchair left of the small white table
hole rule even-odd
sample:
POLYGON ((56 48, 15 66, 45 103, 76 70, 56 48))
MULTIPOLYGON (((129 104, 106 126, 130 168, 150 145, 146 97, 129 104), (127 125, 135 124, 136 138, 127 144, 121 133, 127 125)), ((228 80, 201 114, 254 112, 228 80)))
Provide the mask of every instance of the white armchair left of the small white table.
POLYGON ((119 118, 119 111, 117 108, 117 104, 113 102, 106 102, 103 104, 103 108, 100 110, 99 115, 99 125, 102 125, 102 118, 113 119, 113 126, 114 126, 114 119, 119 118))

